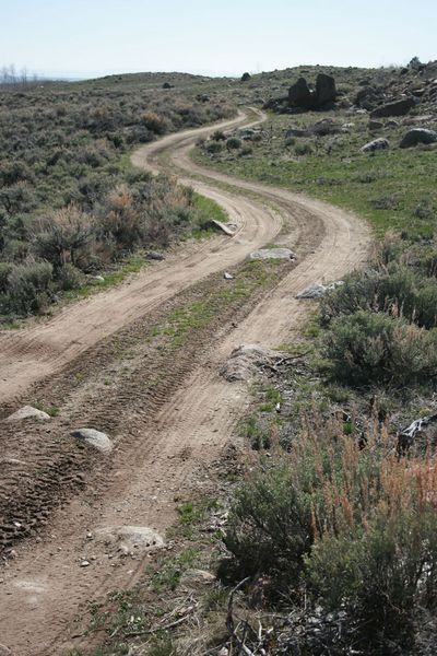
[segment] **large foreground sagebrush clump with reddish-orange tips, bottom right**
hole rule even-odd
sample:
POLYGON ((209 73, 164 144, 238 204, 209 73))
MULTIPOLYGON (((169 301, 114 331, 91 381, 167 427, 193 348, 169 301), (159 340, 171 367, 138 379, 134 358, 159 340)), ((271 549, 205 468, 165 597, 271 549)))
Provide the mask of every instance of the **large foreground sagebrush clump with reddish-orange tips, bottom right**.
POLYGON ((373 647, 387 639, 399 649, 417 610, 436 609, 437 465, 399 459, 383 427, 365 440, 307 420, 293 449, 238 491, 225 543, 238 579, 268 575, 282 598, 342 611, 368 653, 405 653, 373 647))

